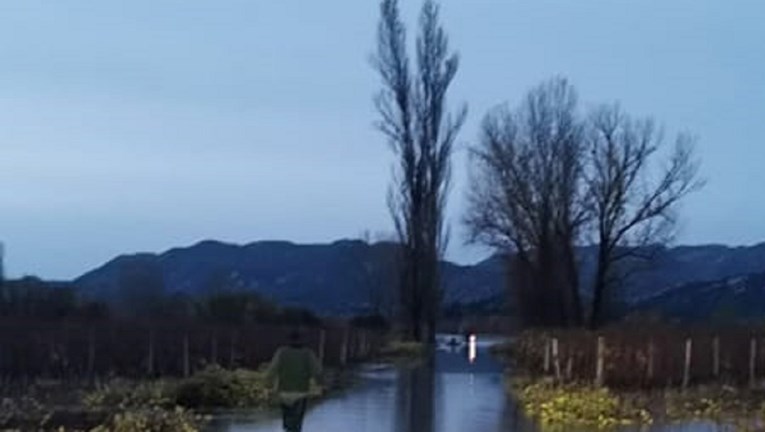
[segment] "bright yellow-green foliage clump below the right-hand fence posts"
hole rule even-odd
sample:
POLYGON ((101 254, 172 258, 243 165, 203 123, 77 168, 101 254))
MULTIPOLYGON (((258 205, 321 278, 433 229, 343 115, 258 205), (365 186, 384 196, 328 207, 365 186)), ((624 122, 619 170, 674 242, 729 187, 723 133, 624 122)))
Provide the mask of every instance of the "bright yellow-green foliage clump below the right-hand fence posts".
POLYGON ((645 409, 625 403, 607 389, 555 386, 548 382, 515 383, 524 411, 543 430, 568 427, 607 430, 631 424, 650 424, 645 409))

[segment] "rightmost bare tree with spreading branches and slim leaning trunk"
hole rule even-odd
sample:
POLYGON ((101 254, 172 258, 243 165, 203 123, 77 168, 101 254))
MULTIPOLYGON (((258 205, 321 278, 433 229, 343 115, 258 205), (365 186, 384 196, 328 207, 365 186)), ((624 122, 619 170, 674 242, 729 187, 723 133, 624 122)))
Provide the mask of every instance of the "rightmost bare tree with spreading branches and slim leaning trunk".
POLYGON ((589 323, 602 324, 605 299, 622 281, 620 262, 666 243, 673 234, 679 201, 699 189, 693 139, 675 138, 662 166, 662 134, 653 121, 633 120, 617 106, 603 106, 587 125, 590 150, 587 185, 598 246, 589 323))

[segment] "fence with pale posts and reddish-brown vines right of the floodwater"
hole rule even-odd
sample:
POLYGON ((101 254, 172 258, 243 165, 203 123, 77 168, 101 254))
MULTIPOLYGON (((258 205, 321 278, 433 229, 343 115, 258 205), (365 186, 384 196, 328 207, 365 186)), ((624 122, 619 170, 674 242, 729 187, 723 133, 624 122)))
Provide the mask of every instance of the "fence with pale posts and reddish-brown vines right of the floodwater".
POLYGON ((514 358, 524 370, 560 382, 611 387, 720 382, 757 386, 765 378, 765 328, 646 326, 600 332, 525 332, 514 358))

